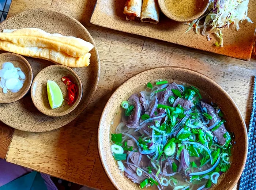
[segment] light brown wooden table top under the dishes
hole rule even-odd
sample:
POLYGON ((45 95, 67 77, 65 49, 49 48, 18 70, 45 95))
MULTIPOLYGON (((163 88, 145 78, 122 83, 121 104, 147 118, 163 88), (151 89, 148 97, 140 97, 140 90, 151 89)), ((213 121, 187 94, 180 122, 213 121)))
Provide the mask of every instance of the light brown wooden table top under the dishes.
POLYGON ((89 107, 60 129, 29 133, 13 130, 0 123, 1 158, 89 187, 114 189, 99 159, 99 117, 108 98, 121 83, 136 73, 156 66, 182 66, 215 80, 237 103, 248 126, 253 75, 256 75, 255 59, 238 60, 95 26, 89 21, 95 2, 12 0, 8 17, 31 8, 50 8, 79 20, 95 39, 101 61, 101 75, 89 107))

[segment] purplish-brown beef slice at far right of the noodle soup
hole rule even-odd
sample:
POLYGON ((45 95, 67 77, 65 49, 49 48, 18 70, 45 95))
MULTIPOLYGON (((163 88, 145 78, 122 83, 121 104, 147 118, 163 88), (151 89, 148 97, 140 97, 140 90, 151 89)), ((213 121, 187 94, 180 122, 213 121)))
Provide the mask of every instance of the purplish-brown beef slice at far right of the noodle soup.
MULTIPOLYGON (((201 106, 207 109, 207 114, 211 115, 212 119, 210 120, 208 126, 212 126, 214 125, 217 121, 219 121, 221 118, 219 117, 219 115, 216 113, 215 109, 204 102, 201 102, 201 106)), ((214 132, 212 132, 216 138, 219 144, 224 145, 226 143, 226 138, 223 137, 223 134, 225 134, 227 132, 225 125, 222 124, 218 129, 216 129, 214 132)))

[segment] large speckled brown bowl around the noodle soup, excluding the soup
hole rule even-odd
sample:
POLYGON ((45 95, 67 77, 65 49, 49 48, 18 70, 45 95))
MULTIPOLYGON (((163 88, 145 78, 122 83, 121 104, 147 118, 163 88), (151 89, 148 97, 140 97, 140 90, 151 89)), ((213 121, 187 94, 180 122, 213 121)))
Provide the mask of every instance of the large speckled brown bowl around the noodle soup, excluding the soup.
POLYGON ((145 89, 148 82, 154 83, 159 79, 193 85, 210 96, 221 108, 227 121, 225 126, 229 132, 234 133, 236 144, 233 146, 233 160, 230 169, 212 189, 231 190, 240 178, 248 152, 244 119, 234 100, 215 81, 198 72, 178 67, 160 67, 141 72, 125 81, 109 98, 102 112, 98 128, 99 155, 109 179, 119 190, 140 189, 138 184, 131 182, 123 172, 118 170, 117 162, 110 150, 110 139, 111 134, 115 133, 115 129, 121 121, 121 102, 127 100, 133 93, 145 89))

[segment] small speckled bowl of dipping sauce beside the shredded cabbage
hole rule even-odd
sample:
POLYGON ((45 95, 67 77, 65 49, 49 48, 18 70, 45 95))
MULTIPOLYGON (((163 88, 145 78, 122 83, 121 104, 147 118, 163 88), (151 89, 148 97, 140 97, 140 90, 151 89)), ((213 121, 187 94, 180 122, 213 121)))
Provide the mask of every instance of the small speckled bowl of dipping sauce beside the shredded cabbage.
POLYGON ((209 6, 209 0, 158 0, 163 14, 178 22, 190 22, 202 16, 209 6))

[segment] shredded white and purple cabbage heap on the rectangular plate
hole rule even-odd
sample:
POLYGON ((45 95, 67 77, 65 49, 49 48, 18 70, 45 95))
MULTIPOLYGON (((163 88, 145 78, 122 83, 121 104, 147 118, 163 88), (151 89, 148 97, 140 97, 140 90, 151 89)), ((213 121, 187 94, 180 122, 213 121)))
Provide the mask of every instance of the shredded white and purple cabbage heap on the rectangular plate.
POLYGON ((248 3, 249 0, 210 0, 208 10, 203 16, 189 23, 185 33, 192 27, 195 27, 196 34, 202 29, 201 34, 207 36, 208 41, 211 39, 210 34, 215 34, 219 39, 215 45, 223 47, 223 28, 232 26, 239 30, 239 22, 242 23, 243 20, 253 23, 247 16, 248 3))

